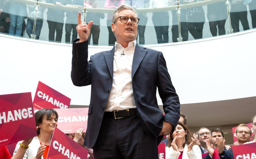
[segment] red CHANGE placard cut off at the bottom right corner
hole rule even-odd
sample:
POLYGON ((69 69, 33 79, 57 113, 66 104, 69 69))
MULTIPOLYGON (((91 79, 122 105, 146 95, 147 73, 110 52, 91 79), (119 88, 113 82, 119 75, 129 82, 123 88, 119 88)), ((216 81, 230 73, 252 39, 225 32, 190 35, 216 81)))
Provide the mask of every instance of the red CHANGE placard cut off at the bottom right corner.
POLYGON ((232 146, 234 159, 256 158, 256 143, 232 146))

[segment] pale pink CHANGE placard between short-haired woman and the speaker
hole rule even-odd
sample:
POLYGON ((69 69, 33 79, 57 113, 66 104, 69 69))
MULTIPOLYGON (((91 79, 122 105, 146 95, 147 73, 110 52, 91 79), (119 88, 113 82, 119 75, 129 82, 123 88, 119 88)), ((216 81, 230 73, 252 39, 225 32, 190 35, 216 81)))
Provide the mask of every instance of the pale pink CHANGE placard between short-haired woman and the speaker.
POLYGON ((59 115, 58 129, 64 133, 75 133, 78 128, 86 132, 89 108, 54 109, 59 115))

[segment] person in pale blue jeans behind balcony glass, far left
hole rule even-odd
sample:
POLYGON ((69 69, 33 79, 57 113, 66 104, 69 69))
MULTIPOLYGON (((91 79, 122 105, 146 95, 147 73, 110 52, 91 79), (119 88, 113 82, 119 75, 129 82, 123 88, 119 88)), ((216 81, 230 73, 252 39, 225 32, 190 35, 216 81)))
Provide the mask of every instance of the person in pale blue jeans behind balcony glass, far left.
POLYGON ((26 5, 20 3, 11 3, 10 5, 10 28, 9 34, 21 36, 22 24, 27 16, 26 5))

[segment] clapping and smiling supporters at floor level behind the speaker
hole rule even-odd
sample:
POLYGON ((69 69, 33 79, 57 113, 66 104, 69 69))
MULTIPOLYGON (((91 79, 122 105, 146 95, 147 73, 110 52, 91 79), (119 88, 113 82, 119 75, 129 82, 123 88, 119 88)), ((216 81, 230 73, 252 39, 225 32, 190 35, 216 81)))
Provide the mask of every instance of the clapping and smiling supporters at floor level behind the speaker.
MULTIPOLYGON (((1 159, 46 159, 51 143, 51 136, 54 128, 58 126, 58 113, 53 109, 41 109, 35 113, 37 126, 37 136, 19 141, 14 150, 13 156, 10 155, 6 146, 0 147, 1 159), (21 147, 25 148, 21 148, 21 147)), ((212 159, 214 149, 218 148, 221 159, 234 159, 233 150, 230 145, 225 145, 224 133, 221 129, 213 130, 201 127, 198 132, 192 133, 186 126, 187 117, 181 113, 177 127, 173 134, 167 139, 162 140, 166 143, 166 158, 172 159, 212 159)), ((252 118, 251 129, 246 124, 239 124, 235 129, 237 142, 233 145, 241 145, 256 142, 256 115, 252 118), (250 141, 250 138, 252 140, 250 141)), ((66 134, 79 145, 89 152, 88 159, 93 159, 93 149, 83 145, 85 133, 83 128, 79 128, 73 134, 66 134)))

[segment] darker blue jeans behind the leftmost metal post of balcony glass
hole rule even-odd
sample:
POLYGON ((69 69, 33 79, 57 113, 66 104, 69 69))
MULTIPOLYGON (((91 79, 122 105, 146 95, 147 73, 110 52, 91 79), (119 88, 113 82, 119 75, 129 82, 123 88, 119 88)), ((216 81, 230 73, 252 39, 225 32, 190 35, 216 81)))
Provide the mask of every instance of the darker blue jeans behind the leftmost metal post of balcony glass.
MULTIPOLYGON (((27 19, 27 35, 31 37, 31 34, 33 34, 33 25, 34 25, 34 20, 27 19)), ((41 29, 43 26, 43 20, 37 19, 37 22, 35 24, 35 39, 39 39, 41 29)))

